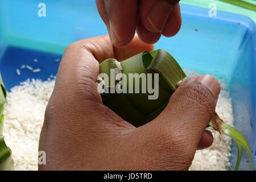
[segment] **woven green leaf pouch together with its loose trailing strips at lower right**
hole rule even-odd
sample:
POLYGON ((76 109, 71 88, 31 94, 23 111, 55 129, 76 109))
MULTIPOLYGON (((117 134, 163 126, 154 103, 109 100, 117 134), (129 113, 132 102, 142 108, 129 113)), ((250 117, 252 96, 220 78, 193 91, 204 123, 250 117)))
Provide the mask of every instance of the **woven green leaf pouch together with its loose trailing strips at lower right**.
MULTIPOLYGON (((108 59, 100 64, 100 73, 106 73, 106 75, 108 75, 108 80, 105 80, 105 78, 102 79, 108 83, 104 88, 105 93, 101 94, 102 101, 104 105, 108 106, 120 117, 136 127, 142 126, 156 118, 167 106, 172 93, 177 89, 177 82, 186 77, 174 57, 168 52, 162 49, 152 52, 143 52, 121 62, 122 73, 125 75, 125 77, 122 78, 122 86, 126 86, 127 90, 132 90, 133 92, 117 93, 115 92, 115 85, 120 82, 115 79, 112 80, 111 78, 113 75, 115 77, 115 74, 112 75, 113 72, 111 73, 111 69, 117 69, 116 61, 115 59, 108 59), (137 75, 129 77, 130 73, 137 73, 137 75), (159 97, 156 100, 148 99, 148 96, 152 95, 148 90, 144 93, 134 92, 136 80, 137 83, 139 82, 137 87, 142 91, 143 76, 141 75, 143 73, 144 75, 159 73, 159 79, 152 76, 154 87, 159 86, 159 97), (107 93, 106 91, 110 91, 111 87, 114 93, 107 93)), ((144 77, 144 81, 148 81, 148 77, 144 77)), ((235 170, 238 169, 241 161, 242 147, 246 149, 251 158, 250 147, 246 139, 236 129, 223 123, 217 113, 213 115, 209 125, 210 129, 228 135, 236 141, 238 157, 235 170)))

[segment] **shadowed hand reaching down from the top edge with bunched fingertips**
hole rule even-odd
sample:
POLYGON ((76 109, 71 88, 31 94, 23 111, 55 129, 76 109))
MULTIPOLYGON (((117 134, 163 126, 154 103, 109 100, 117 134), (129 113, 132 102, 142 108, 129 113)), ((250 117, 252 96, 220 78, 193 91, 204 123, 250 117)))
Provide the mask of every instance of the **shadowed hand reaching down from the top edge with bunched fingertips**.
POLYGON ((133 40, 135 30, 142 42, 156 43, 171 37, 181 26, 179 0, 96 0, 98 12, 116 47, 133 40))

